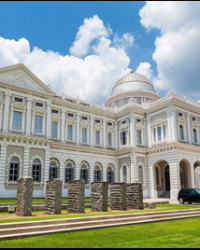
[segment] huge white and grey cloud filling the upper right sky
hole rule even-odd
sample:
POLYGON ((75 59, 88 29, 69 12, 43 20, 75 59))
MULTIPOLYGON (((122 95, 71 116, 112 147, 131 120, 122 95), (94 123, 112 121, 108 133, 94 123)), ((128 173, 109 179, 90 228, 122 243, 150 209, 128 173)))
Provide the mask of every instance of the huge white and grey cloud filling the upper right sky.
POLYGON ((147 1, 140 10, 141 24, 160 29, 153 60, 158 75, 157 89, 174 89, 176 94, 200 94, 200 2, 147 1), (173 77, 171 66, 173 64, 173 77))

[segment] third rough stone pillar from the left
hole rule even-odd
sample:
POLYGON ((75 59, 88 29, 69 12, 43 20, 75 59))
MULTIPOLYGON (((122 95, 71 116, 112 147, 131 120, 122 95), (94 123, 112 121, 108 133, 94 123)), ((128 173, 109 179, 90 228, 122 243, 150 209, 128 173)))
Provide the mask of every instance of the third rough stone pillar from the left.
POLYGON ((85 181, 75 180, 68 184, 68 213, 85 212, 85 181))

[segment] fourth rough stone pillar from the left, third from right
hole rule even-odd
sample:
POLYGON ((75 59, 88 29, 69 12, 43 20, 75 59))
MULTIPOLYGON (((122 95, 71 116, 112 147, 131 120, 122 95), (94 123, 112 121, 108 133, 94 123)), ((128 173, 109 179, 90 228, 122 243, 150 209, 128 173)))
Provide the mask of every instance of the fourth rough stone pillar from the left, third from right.
POLYGON ((108 183, 91 183, 91 210, 97 212, 108 211, 108 183))

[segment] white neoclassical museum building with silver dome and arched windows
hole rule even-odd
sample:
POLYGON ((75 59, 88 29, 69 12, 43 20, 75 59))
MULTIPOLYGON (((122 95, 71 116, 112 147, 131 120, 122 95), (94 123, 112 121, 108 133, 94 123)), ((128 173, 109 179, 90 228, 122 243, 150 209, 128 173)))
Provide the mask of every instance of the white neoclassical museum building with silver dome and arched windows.
POLYGON ((130 72, 106 105, 56 94, 23 64, 0 69, 0 198, 16 197, 17 179, 32 176, 34 197, 46 181, 143 184, 144 198, 177 199, 200 188, 200 103, 172 92, 163 98, 130 72))

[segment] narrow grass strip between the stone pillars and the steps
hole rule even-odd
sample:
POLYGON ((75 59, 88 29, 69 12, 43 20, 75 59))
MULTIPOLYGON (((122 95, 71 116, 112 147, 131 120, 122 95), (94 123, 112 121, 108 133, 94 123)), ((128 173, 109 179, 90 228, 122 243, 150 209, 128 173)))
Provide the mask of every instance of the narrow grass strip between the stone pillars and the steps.
MULTIPOLYGON (((100 215, 116 215, 116 214, 127 214, 127 213, 144 213, 144 212, 158 212, 158 211, 170 211, 170 210, 182 210, 200 208, 199 205, 179 205, 179 204, 157 204, 156 209, 144 209, 144 210, 128 210, 128 211, 111 211, 108 212, 91 212, 90 208, 85 209, 84 214, 69 214, 67 210, 62 210, 61 215, 46 215, 44 211, 32 212, 31 217, 19 217, 15 214, 0 213, 0 223, 13 223, 13 222, 25 222, 25 221, 41 221, 41 220, 53 220, 53 219, 64 219, 64 218, 77 218, 77 217, 89 217, 89 216, 100 216, 100 215)), ((1 245, 0 245, 1 247, 1 245)))

